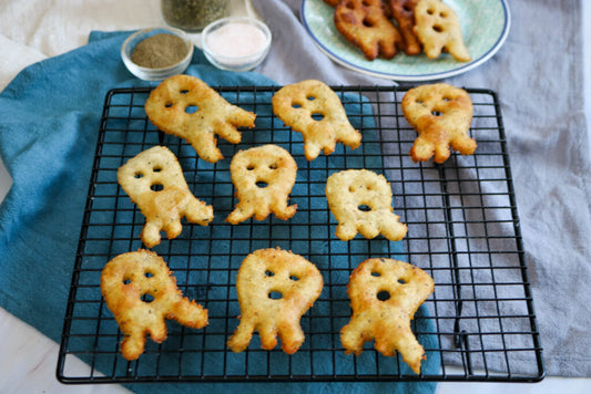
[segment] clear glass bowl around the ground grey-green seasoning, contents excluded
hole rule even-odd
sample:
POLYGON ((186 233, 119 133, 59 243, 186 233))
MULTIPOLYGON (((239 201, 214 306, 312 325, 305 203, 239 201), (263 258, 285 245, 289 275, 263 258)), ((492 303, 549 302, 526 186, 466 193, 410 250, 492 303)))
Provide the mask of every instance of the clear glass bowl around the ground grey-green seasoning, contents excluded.
POLYGON ((144 29, 144 30, 140 30, 131 34, 123 42, 123 45, 121 45, 121 59, 123 59, 123 63, 125 63, 125 66, 128 68, 128 70, 133 75, 137 76, 139 79, 145 80, 145 81, 162 81, 162 80, 167 79, 169 76, 182 74, 186 70, 186 68, 191 63, 191 59, 193 59, 193 42, 188 39, 185 32, 179 29, 174 29, 174 28, 144 29), (181 60, 176 64, 173 64, 167 68, 161 68, 161 69, 150 69, 150 68, 144 68, 144 66, 135 64, 131 60, 131 54, 133 53, 135 45, 137 45, 140 42, 147 39, 149 37, 160 34, 160 33, 173 34, 173 35, 181 38, 185 42, 186 48, 187 48, 186 56, 183 58, 183 60, 181 60))

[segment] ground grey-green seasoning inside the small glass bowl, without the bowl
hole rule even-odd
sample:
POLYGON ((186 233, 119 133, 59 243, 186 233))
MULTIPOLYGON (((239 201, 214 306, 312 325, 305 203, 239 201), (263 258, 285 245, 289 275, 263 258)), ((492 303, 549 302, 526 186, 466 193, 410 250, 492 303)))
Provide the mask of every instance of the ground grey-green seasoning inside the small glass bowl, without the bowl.
POLYGON ((131 61, 143 68, 162 69, 179 63, 187 53, 188 48, 182 39, 161 33, 140 41, 131 53, 131 61))

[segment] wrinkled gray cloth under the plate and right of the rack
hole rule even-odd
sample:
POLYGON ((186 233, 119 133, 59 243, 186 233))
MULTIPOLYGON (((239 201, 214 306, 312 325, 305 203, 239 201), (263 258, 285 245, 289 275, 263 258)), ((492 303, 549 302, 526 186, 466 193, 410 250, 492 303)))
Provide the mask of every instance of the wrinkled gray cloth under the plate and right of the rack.
MULTIPOLYGON (((323 54, 300 24, 300 1, 253 3, 274 34, 258 72, 282 84, 305 79, 391 84, 323 54)), ((547 373, 591 376, 591 172, 581 4, 522 0, 510 2, 510 11, 511 31, 501 50, 445 82, 498 94, 547 373)))

